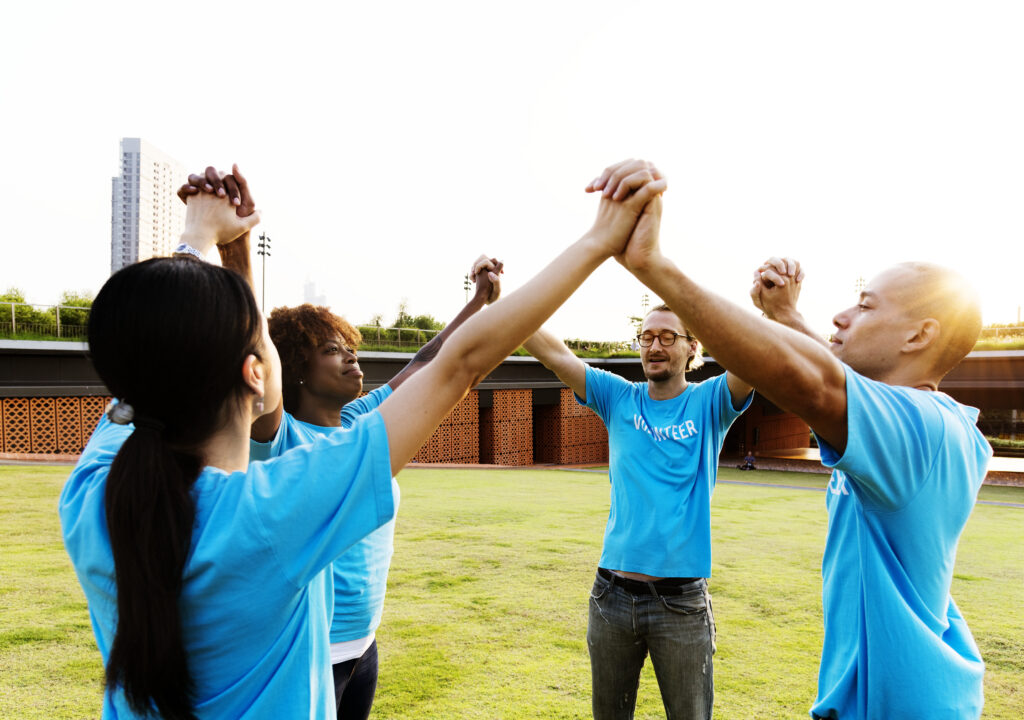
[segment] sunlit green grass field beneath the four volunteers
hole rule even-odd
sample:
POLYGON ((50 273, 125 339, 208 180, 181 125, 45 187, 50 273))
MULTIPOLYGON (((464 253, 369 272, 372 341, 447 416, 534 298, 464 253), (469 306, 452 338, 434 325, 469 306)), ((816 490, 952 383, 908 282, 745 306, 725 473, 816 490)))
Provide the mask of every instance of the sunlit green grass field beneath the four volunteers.
MULTIPOLYGON (((97 717, 101 666, 60 544, 68 468, 0 467, 0 717, 97 717)), ((587 718, 587 596, 607 514, 594 472, 411 469, 374 718, 587 718)), ((716 718, 806 718, 821 645, 821 475, 742 473, 713 507, 716 718)), ((1024 504, 1024 490, 982 499, 1024 504)), ((1024 716, 1024 509, 979 505, 953 596, 987 663, 985 718, 1024 716)), ((637 718, 663 718, 649 664, 637 718)))

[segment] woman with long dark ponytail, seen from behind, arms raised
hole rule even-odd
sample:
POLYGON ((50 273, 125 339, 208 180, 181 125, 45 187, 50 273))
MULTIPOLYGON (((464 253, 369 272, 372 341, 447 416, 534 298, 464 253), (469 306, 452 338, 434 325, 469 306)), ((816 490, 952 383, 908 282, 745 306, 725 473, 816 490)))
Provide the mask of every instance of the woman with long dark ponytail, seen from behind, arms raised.
MULTIPOLYGON (((610 170, 625 197, 603 198, 583 239, 468 320, 378 410, 265 463, 249 464, 250 426, 280 406, 281 364, 246 281, 182 255, 106 282, 89 348, 119 401, 60 496, 106 669, 104 718, 333 717, 325 568, 393 517, 392 474, 622 252, 665 188, 642 161, 610 170)), ((228 199, 248 198, 237 170, 208 177, 226 192, 188 198, 191 255, 258 219, 239 217, 228 199)))

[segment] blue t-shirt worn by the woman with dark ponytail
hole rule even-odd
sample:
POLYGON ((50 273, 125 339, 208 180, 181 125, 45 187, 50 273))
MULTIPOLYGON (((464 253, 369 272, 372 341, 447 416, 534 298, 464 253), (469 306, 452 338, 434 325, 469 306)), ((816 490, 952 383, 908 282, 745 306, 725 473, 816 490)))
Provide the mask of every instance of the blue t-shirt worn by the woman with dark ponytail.
MULTIPOLYGON (((65 484, 65 546, 105 664, 117 586, 103 495, 131 426, 101 418, 65 484)), ((145 478, 139 478, 144 482, 145 478)), ((201 718, 333 717, 324 569, 394 517, 379 413, 245 472, 204 468, 179 608, 201 718)), ((135 717, 121 691, 104 718, 135 717)))

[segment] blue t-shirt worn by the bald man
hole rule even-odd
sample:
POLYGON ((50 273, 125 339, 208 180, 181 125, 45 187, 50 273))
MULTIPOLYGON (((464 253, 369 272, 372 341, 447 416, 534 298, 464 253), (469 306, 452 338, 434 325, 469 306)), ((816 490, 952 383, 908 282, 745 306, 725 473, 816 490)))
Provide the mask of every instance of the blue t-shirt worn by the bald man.
POLYGON ((846 368, 846 452, 825 493, 824 646, 812 714, 977 718, 984 666, 949 595, 992 449, 978 411, 846 368))

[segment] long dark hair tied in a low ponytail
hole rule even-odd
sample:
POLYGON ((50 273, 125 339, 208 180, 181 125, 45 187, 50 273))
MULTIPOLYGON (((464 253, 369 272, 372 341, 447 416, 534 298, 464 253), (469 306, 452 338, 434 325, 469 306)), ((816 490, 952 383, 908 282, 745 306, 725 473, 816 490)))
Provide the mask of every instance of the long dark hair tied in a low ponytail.
POLYGON ((92 305, 93 365, 135 413, 104 497, 118 605, 106 686, 139 715, 195 717, 178 608, 191 488, 203 446, 251 397, 242 365, 258 354, 261 322, 238 274, 190 258, 130 265, 92 305))

